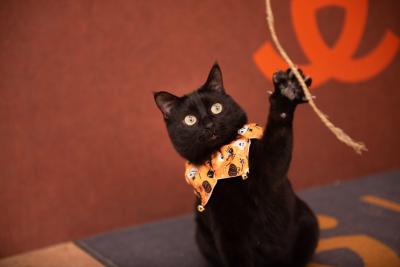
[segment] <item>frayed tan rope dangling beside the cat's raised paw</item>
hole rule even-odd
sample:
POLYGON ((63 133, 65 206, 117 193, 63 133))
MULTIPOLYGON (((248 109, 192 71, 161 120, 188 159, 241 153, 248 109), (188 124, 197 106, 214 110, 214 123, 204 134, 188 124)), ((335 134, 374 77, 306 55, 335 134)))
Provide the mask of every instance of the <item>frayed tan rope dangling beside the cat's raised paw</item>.
POLYGON ((317 107, 315 104, 313 97, 310 93, 310 91, 307 88, 307 85, 305 84, 303 78, 301 77, 300 73, 297 71, 297 68, 293 64, 293 61, 289 58, 287 55, 286 51, 283 49, 281 46, 278 37, 276 35, 275 29, 274 29, 274 15, 272 13, 272 8, 271 8, 271 0, 266 0, 266 13, 267 13, 267 23, 269 30, 271 32, 272 40, 278 49, 279 53, 281 54, 282 58, 286 61, 286 63, 289 65, 289 67, 292 69, 294 75, 296 76, 296 79, 299 81, 301 87, 303 88, 304 94, 308 100, 308 103, 310 104, 311 108, 314 110, 314 112, 318 115, 318 117, 321 119, 321 121, 325 124, 325 126, 334 134, 336 135, 336 138, 339 139, 341 142, 345 143, 349 147, 353 148, 354 151, 357 154, 361 154, 363 151, 368 151, 367 147, 365 146, 364 143, 362 142, 357 142, 354 141, 349 135, 347 135, 342 129, 336 127, 329 119, 328 117, 322 113, 322 111, 317 107))

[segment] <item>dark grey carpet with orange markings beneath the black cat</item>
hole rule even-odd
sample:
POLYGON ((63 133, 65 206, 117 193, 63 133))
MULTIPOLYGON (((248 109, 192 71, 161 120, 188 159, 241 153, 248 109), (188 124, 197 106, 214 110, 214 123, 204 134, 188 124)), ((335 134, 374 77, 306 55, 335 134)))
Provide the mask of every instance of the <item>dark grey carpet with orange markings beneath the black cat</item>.
MULTIPOLYGON (((400 172, 313 188, 299 195, 318 214, 321 227, 310 266, 400 266, 400 172)), ((76 244, 109 267, 207 266, 194 241, 192 215, 76 244)))

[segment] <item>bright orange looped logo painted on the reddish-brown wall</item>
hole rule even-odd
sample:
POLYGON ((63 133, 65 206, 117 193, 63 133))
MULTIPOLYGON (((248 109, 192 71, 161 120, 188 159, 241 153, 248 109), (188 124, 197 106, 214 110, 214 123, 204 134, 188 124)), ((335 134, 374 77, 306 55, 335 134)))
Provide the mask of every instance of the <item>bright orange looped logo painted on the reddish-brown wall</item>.
MULTIPOLYGON (((387 30, 379 44, 361 58, 353 55, 360 45, 367 21, 367 0, 293 0, 291 2, 293 27, 300 46, 309 60, 299 65, 313 77, 314 87, 329 79, 358 82, 380 73, 394 58, 399 38, 387 30), (318 9, 339 6, 345 9, 344 26, 333 47, 326 45, 318 30, 318 9)), ((286 63, 270 42, 265 42, 253 55, 257 67, 268 79, 286 63)))

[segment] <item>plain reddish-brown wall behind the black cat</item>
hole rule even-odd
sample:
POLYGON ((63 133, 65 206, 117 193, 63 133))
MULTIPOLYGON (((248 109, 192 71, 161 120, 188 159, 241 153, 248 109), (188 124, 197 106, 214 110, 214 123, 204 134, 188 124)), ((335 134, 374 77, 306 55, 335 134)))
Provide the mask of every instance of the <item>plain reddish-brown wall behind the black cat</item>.
MULTIPOLYGON (((273 1, 278 34, 293 59, 308 64, 295 32, 311 29, 293 27, 290 7, 273 1)), ((369 152, 356 155, 301 107, 290 171, 296 188, 400 167, 399 9, 396 0, 370 1, 361 43, 345 43, 355 45, 352 62, 391 31, 394 54, 384 49, 375 73, 363 63, 335 78, 335 58, 306 67, 319 77, 318 105, 369 152), (323 81, 327 73, 333 78, 323 81)), ((331 45, 344 14, 317 13, 331 45)), ((264 17, 262 0, 1 1, 0 256, 189 212, 183 161, 151 92, 184 94, 218 60, 228 92, 263 124, 271 82, 255 53, 269 40, 264 17)), ((269 54, 263 62, 279 65, 269 54)))

